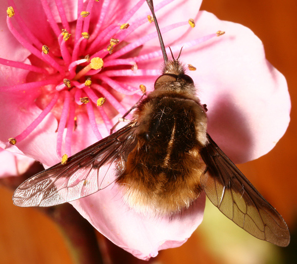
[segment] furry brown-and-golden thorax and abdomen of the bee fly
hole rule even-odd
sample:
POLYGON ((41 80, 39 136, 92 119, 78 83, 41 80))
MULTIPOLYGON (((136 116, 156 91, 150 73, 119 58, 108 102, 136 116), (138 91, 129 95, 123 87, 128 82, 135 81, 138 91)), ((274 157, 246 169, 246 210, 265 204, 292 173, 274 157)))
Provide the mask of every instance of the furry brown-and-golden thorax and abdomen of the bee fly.
POLYGON ((162 98, 150 100, 138 114, 138 143, 117 179, 125 200, 142 213, 171 215, 189 208, 199 196, 205 169, 197 128, 205 113, 201 118, 201 107, 193 101, 162 98))

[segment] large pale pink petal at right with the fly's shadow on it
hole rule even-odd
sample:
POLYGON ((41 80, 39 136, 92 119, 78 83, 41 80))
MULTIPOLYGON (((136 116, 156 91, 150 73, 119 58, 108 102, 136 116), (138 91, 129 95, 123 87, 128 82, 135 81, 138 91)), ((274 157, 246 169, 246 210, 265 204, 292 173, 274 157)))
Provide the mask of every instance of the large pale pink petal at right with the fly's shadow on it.
POLYGON ((218 30, 226 34, 184 48, 181 60, 197 68, 188 75, 201 103, 207 104, 208 133, 241 163, 266 154, 283 136, 290 121, 290 97, 285 77, 265 59, 262 42, 242 25, 201 11, 196 27, 177 42, 218 30))

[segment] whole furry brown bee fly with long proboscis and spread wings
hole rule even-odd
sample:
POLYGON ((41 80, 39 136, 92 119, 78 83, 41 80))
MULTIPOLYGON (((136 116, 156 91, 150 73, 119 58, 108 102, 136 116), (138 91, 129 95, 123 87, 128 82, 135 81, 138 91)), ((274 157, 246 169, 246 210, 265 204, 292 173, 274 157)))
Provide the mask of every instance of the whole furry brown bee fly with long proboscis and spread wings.
POLYGON ((207 134, 206 107, 179 57, 168 60, 152 0, 147 2, 164 57, 154 91, 137 104, 126 126, 71 156, 65 165, 56 164, 21 184, 14 204, 52 206, 115 182, 136 211, 168 216, 189 208, 204 191, 253 236, 287 246, 290 234, 281 215, 207 134))

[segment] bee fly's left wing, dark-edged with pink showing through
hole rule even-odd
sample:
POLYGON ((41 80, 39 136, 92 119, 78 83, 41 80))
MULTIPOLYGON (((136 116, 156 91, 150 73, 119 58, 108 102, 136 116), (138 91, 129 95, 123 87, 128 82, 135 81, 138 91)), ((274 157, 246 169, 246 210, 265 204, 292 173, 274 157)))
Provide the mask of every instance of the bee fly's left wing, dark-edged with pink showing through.
POLYGON ((110 136, 22 183, 15 190, 15 205, 52 206, 70 202, 104 189, 126 168, 128 154, 137 140, 130 123, 110 136))

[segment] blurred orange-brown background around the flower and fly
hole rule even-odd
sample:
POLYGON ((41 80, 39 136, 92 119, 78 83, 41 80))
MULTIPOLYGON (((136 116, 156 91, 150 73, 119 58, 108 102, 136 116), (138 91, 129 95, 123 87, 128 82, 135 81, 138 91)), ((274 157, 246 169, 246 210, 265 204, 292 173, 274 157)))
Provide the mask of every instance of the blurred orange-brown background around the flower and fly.
MULTIPOLYGON (((201 10, 250 28, 263 41, 267 59, 287 78, 292 99, 288 131, 267 155, 239 167, 284 217, 292 240, 284 249, 257 240, 207 203, 203 223, 189 241, 180 248, 161 251, 149 263, 296 263, 297 1, 204 0, 201 10)), ((36 209, 13 206, 11 196, 11 190, 0 187, 0 264, 73 263, 59 227, 36 209)), ((97 235, 112 256, 121 256, 114 263, 147 263, 116 249, 97 235)))

